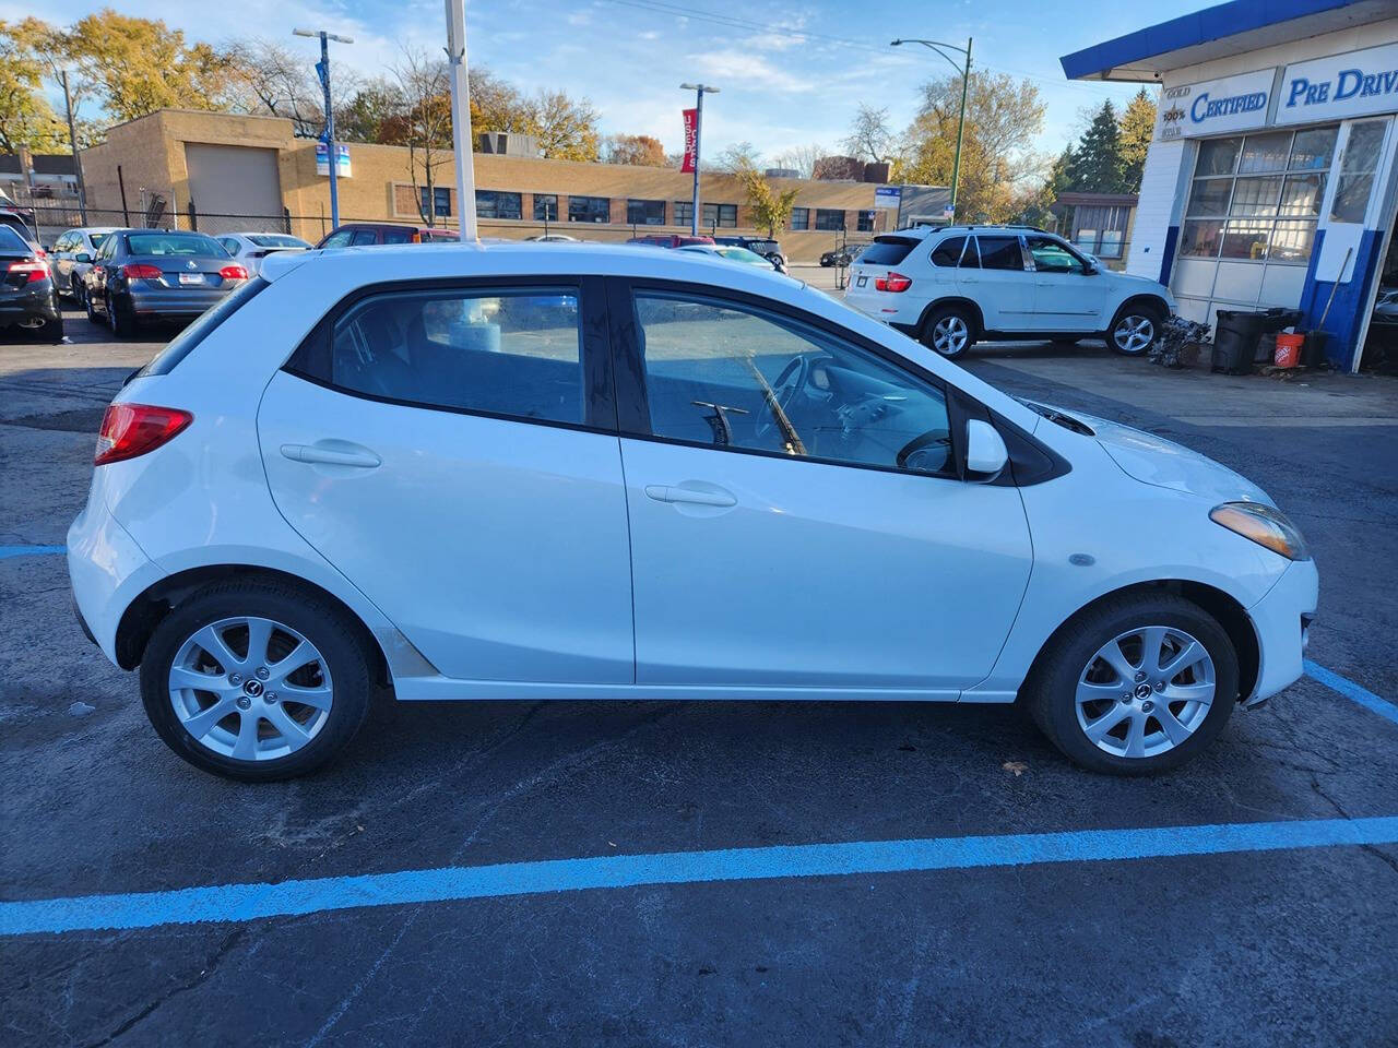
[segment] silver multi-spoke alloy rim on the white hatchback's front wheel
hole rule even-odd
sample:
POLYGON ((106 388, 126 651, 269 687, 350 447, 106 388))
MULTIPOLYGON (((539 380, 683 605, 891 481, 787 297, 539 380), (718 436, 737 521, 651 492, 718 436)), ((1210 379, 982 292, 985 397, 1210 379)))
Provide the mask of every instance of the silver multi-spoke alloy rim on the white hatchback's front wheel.
POLYGON ((1106 753, 1155 757, 1198 731, 1215 694, 1204 644, 1174 626, 1142 626, 1088 660, 1078 676, 1078 727, 1106 753))

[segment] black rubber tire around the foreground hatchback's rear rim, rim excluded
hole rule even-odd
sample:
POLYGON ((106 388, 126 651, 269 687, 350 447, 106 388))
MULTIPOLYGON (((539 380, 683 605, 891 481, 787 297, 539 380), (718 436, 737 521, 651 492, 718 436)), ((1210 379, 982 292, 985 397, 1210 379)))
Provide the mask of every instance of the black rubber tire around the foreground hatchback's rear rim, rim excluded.
MULTIPOLYGON (((245 783, 294 778, 330 760, 363 724, 373 686, 363 630, 320 597, 274 581, 217 583, 166 615, 141 660, 141 701, 161 739, 194 767, 245 783), (256 615, 289 626, 324 657, 333 682, 329 717, 313 738, 288 756, 236 760, 204 746, 185 727, 171 700, 169 674, 185 641, 219 619, 256 615)), ((259 727, 260 722, 259 722, 259 727)))

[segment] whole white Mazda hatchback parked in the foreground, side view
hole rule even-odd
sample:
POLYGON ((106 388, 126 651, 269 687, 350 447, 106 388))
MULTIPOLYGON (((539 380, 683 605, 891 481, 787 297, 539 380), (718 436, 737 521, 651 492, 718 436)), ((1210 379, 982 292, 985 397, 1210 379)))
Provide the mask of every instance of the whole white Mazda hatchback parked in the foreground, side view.
POLYGON ((776 272, 593 245, 268 257, 108 409, 69 569, 161 738, 247 780, 376 685, 1021 700, 1156 771, 1300 675, 1317 592, 1206 458, 776 272))

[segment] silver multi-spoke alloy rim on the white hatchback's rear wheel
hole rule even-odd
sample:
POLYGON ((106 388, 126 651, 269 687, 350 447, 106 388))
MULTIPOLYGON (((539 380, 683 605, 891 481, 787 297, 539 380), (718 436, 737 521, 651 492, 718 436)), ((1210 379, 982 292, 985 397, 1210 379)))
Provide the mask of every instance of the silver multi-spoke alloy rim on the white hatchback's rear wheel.
POLYGON ((324 655, 296 630, 257 616, 221 619, 175 653, 169 697, 185 731, 233 760, 275 760, 330 718, 324 655))

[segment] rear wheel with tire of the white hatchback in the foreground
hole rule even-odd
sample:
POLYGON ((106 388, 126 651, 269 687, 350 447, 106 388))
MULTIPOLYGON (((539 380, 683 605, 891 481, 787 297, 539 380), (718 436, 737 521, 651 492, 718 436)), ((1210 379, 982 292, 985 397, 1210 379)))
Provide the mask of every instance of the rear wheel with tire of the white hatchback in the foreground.
POLYGON ((306 774, 359 729, 369 653, 322 598, 275 583, 211 585, 155 627, 145 714, 197 769, 243 781, 306 774))

